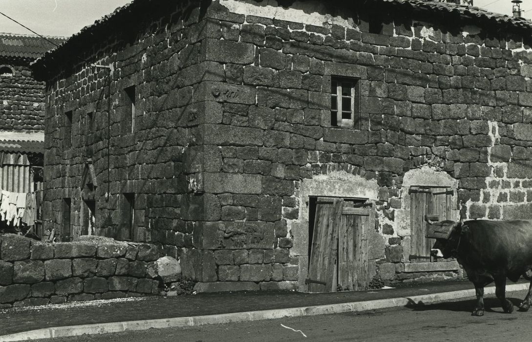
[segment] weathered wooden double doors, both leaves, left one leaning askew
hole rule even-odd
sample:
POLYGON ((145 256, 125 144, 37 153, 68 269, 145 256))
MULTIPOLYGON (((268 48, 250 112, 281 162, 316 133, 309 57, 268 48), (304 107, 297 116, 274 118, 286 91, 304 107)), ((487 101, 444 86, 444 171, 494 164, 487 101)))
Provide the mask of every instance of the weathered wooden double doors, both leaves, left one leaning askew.
POLYGON ((310 292, 364 289, 368 282, 371 203, 320 197, 309 262, 310 292))

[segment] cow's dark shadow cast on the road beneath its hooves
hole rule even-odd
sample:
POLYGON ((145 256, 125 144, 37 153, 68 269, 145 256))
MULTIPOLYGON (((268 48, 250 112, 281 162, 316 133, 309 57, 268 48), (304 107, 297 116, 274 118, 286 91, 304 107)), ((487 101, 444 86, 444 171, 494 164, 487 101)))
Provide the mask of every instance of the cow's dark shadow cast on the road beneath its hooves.
MULTIPOLYGON (((425 304, 423 302, 414 302, 408 298, 410 303, 405 307, 411 308, 413 311, 428 311, 428 310, 444 310, 444 311, 458 311, 458 312, 471 312, 475 307, 475 298, 466 299, 457 302, 442 302, 436 304, 425 304)), ((521 303, 522 299, 519 298, 507 298, 513 303, 514 312, 518 310, 517 305, 521 303)), ((501 302, 497 298, 484 298, 484 307, 486 312, 504 313, 501 307, 501 302)))

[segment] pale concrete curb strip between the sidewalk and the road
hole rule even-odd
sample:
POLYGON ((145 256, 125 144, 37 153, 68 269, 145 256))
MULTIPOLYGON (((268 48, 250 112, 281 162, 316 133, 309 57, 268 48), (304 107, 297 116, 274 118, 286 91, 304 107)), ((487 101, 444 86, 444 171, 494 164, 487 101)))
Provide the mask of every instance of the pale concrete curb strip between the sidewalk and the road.
MULTIPOLYGON (((512 284, 506 286, 506 291, 527 290, 528 283, 512 284)), ((495 287, 487 287, 484 290, 485 295, 495 293, 495 287)), ((68 326, 30 330, 10 335, 0 336, 0 342, 32 340, 40 338, 54 337, 71 337, 80 335, 95 335, 99 333, 121 332, 127 330, 147 330, 159 328, 177 328, 189 326, 201 326, 203 324, 218 324, 231 322, 247 322, 267 319, 278 319, 295 316, 323 315, 343 312, 358 312, 366 310, 376 310, 379 308, 398 307, 408 304, 431 304, 451 299, 460 299, 465 297, 474 297, 475 289, 451 291, 430 295, 419 295, 412 297, 378 299, 376 301, 339 303, 330 305, 317 305, 306 307, 292 307, 279 310, 263 310, 227 313, 219 315, 177 317, 168 319, 130 321, 130 322, 113 322, 101 324, 86 324, 83 326, 68 326)))

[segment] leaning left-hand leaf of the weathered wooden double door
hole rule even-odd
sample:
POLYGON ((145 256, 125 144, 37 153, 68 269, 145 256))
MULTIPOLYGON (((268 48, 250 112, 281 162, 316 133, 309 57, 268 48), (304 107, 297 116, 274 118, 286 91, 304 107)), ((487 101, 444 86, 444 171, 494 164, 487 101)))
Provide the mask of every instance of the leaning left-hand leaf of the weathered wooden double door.
POLYGON ((342 198, 319 197, 309 261, 310 292, 334 292, 337 286, 338 227, 342 198))

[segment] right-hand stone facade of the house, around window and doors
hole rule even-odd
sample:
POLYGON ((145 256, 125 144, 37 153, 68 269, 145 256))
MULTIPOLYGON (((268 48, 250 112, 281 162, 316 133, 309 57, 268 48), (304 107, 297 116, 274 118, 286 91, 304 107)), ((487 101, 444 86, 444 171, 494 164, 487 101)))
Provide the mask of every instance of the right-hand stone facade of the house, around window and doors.
POLYGON ((195 90, 218 103, 218 121, 202 131, 210 170, 189 181, 209 198, 204 220, 218 220, 194 231, 195 247, 209 255, 203 281, 219 281, 205 288, 236 280, 276 288, 282 279, 304 289, 308 198, 298 188, 334 172, 377 181, 370 276, 386 281, 461 276, 456 262, 410 263, 406 171, 430 170, 411 186, 438 186, 438 171, 454 179, 453 218, 459 210, 471 219, 530 216, 528 41, 471 23, 452 33, 436 16, 359 8, 347 12, 350 21, 310 4, 296 11, 247 3, 221 1, 231 16, 207 19, 205 59, 223 64, 225 83, 195 90), (367 127, 330 127, 331 76, 360 79, 367 127), (279 265, 263 246, 274 255, 288 250, 288 259, 279 265))

